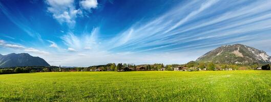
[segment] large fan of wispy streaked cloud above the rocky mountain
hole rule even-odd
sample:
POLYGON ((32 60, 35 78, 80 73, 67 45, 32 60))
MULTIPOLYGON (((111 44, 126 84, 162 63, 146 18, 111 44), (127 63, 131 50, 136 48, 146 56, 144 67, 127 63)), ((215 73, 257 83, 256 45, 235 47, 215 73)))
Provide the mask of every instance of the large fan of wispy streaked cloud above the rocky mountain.
MULTIPOLYGON (((187 5, 180 4, 157 19, 132 25, 130 29, 114 37, 110 41, 114 45, 109 45, 108 48, 119 52, 163 52, 190 45, 209 45, 217 43, 215 41, 218 39, 226 43, 244 42, 248 39, 231 39, 242 38, 244 34, 256 35, 257 31, 269 32, 270 27, 266 22, 271 22, 268 13, 271 10, 270 3, 255 1, 240 6, 245 4, 245 1, 238 1, 226 7, 221 6, 226 4, 225 1, 194 1, 187 5), (251 34, 253 32, 254 34, 251 34)), ((254 39, 259 37, 261 36, 254 39)))

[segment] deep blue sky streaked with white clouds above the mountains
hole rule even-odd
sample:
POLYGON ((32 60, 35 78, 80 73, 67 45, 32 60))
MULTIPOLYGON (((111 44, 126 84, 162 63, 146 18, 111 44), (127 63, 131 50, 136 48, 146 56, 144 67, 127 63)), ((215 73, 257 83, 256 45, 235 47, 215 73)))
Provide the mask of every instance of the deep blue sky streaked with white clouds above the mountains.
POLYGON ((0 54, 50 65, 184 64, 226 44, 271 55, 271 1, 0 0, 0 54))

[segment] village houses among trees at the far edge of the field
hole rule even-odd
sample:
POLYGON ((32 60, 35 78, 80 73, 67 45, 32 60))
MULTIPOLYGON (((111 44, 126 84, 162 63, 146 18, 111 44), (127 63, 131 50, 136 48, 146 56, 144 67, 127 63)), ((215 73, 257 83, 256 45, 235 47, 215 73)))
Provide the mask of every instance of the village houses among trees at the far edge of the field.
MULTIPOLYGON (((71 68, 71 69, 66 69, 67 71, 206 71, 206 70, 270 70, 270 64, 267 65, 253 65, 253 66, 237 66, 237 65, 229 65, 229 66, 224 66, 222 67, 217 67, 218 65, 212 64, 209 66, 204 66, 200 67, 199 65, 191 67, 191 65, 178 65, 178 64, 173 64, 173 65, 166 65, 164 66, 163 64, 145 64, 145 65, 127 65, 127 64, 118 64, 118 66, 115 66, 113 64, 107 64, 107 65, 100 65, 100 66, 91 66, 88 68, 71 68), (110 66, 109 66, 110 65, 110 66), (213 65, 213 66, 212 66, 213 65)), ((60 70, 63 70, 60 68, 60 70)))

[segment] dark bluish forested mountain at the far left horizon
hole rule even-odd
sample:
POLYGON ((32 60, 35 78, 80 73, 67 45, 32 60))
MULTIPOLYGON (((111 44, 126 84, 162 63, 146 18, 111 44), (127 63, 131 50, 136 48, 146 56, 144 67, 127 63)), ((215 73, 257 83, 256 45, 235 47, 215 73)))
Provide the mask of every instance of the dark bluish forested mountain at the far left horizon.
POLYGON ((0 68, 16 66, 50 66, 44 59, 27 53, 0 55, 0 68))

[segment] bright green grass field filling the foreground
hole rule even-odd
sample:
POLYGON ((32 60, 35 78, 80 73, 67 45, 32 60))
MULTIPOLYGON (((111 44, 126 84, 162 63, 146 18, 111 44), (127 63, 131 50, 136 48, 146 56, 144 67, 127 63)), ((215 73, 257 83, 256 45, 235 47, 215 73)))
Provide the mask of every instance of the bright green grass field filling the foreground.
POLYGON ((271 101, 271 71, 2 74, 0 101, 271 101))

